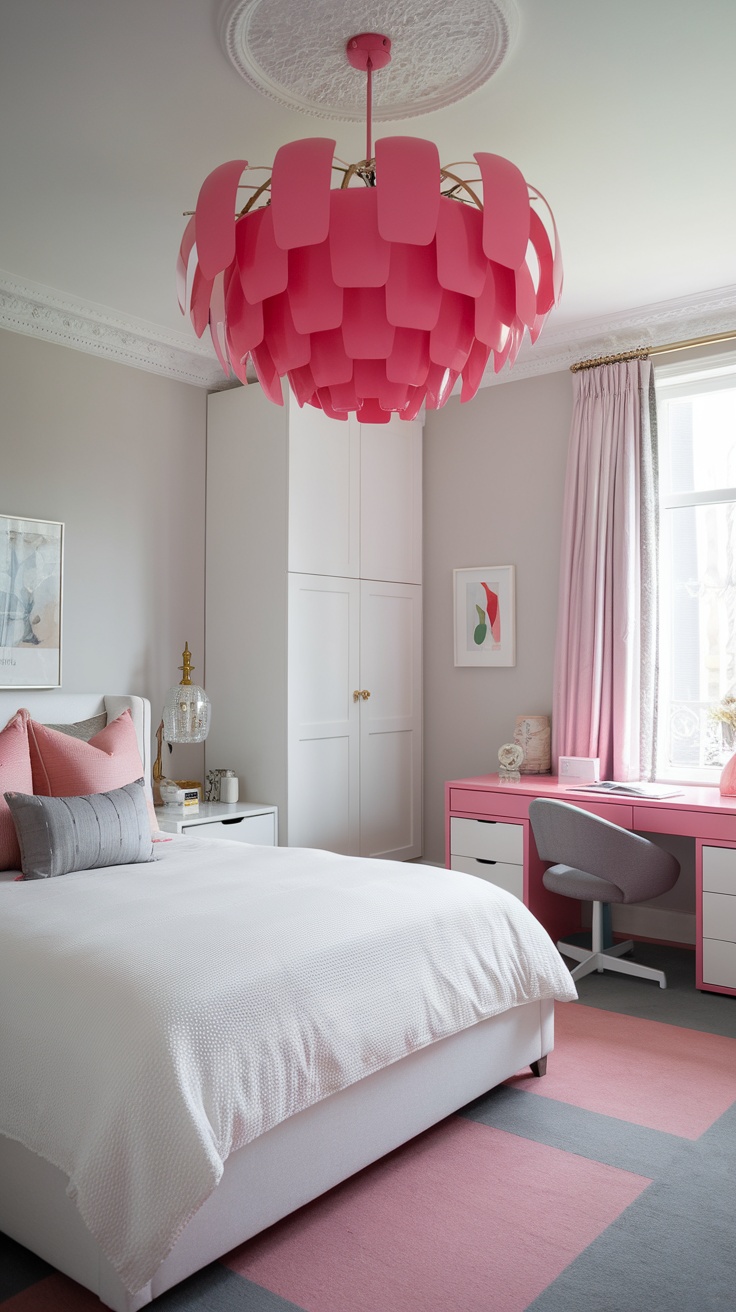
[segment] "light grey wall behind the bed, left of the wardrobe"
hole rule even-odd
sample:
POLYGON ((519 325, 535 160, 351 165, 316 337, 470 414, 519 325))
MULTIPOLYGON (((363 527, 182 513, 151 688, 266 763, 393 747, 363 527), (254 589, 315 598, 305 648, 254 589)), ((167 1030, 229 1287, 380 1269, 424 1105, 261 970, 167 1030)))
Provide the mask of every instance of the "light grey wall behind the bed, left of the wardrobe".
MULTIPOLYGON (((157 724, 185 640, 205 676, 206 395, 0 332, 0 512, 66 526, 63 687, 139 693, 157 724)), ((171 773, 202 765, 182 747, 171 773)))

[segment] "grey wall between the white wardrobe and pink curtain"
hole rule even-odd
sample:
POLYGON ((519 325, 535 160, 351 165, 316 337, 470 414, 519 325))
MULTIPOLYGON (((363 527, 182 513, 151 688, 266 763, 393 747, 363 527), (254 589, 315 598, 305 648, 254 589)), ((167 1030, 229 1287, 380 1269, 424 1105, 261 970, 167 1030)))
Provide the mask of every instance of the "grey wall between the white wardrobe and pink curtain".
POLYGON ((517 715, 550 715, 572 383, 453 398, 424 429, 424 857, 443 862, 445 779, 489 774, 517 715), (454 665, 453 569, 516 565, 517 663, 454 665))

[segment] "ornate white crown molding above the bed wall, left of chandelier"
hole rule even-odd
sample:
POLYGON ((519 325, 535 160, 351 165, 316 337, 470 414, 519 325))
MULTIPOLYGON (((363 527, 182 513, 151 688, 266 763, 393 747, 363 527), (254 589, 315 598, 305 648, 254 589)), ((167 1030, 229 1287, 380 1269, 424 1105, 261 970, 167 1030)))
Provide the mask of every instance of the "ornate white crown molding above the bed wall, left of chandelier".
POLYGON ((0 328, 55 341, 194 387, 227 386, 214 349, 189 333, 114 314, 52 287, 0 270, 0 328))

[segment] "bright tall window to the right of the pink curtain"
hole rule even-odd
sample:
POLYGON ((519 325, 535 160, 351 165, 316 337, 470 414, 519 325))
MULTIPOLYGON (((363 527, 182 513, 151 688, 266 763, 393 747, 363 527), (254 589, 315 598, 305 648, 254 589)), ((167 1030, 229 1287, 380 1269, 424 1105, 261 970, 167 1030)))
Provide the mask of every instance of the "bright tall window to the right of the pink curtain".
POLYGON ((736 750, 710 714, 736 693, 736 356, 656 371, 657 777, 716 782, 736 750))

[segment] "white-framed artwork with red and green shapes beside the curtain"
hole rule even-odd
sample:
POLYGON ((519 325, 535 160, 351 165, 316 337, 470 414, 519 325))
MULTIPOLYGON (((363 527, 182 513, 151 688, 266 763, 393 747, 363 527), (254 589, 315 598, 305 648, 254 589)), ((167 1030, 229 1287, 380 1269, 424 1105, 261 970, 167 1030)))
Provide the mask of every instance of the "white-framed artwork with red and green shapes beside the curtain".
POLYGON ((453 569, 455 665, 516 665, 514 565, 453 569))

